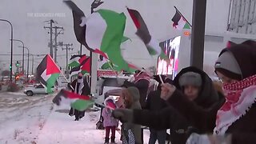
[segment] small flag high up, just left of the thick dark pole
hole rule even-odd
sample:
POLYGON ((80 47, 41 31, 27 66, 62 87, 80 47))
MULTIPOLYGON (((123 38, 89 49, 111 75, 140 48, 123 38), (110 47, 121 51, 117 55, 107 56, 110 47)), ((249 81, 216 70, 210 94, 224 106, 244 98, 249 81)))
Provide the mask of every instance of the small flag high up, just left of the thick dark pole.
POLYGON ((171 20, 174 22, 173 26, 175 29, 190 29, 190 24, 186 22, 186 19, 182 17, 182 14, 180 14, 177 9, 174 18, 172 18, 171 20))

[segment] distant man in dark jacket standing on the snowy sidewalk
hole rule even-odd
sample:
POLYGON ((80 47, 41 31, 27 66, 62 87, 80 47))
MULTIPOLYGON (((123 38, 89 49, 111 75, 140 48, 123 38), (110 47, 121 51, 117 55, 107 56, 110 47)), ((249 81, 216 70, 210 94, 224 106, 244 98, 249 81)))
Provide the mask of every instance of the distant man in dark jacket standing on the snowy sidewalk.
MULTIPOLYGON (((90 94, 90 87, 88 85, 88 82, 86 82, 86 79, 83 78, 82 73, 78 73, 78 79, 75 79, 69 87, 76 94, 90 94)), ((73 108, 71 108, 69 114, 70 116, 75 116, 74 121, 78 121, 80 118, 85 116, 85 111, 74 110, 73 108)))

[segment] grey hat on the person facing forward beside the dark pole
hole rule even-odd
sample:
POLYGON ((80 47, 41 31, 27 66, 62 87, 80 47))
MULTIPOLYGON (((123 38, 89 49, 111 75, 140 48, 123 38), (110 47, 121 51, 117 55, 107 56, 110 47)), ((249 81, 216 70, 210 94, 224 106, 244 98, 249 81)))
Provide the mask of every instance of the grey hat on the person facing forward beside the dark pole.
POLYGON ((198 73, 187 72, 182 74, 182 76, 178 79, 178 83, 180 86, 202 86, 202 78, 198 73))

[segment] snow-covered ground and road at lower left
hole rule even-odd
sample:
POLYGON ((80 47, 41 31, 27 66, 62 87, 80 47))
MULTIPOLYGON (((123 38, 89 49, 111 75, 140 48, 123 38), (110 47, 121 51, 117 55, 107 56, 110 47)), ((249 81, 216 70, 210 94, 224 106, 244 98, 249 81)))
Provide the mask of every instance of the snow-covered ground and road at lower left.
MULTIPOLYGON (((69 106, 54 106, 54 95, 27 97, 22 93, 0 93, 0 143, 100 144, 104 130, 96 130, 100 111, 86 112, 80 121, 70 117, 69 106)), ((144 132, 145 143, 149 131, 144 132)), ((119 141, 120 134, 116 134, 119 141)))

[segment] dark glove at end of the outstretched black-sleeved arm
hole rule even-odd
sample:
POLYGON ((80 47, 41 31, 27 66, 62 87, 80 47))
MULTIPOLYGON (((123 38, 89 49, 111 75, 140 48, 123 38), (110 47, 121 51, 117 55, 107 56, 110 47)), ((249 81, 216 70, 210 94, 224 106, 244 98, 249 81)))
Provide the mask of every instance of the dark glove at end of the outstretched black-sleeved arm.
POLYGON ((134 112, 129 109, 115 109, 112 112, 112 116, 119 119, 122 123, 133 122, 134 112))

